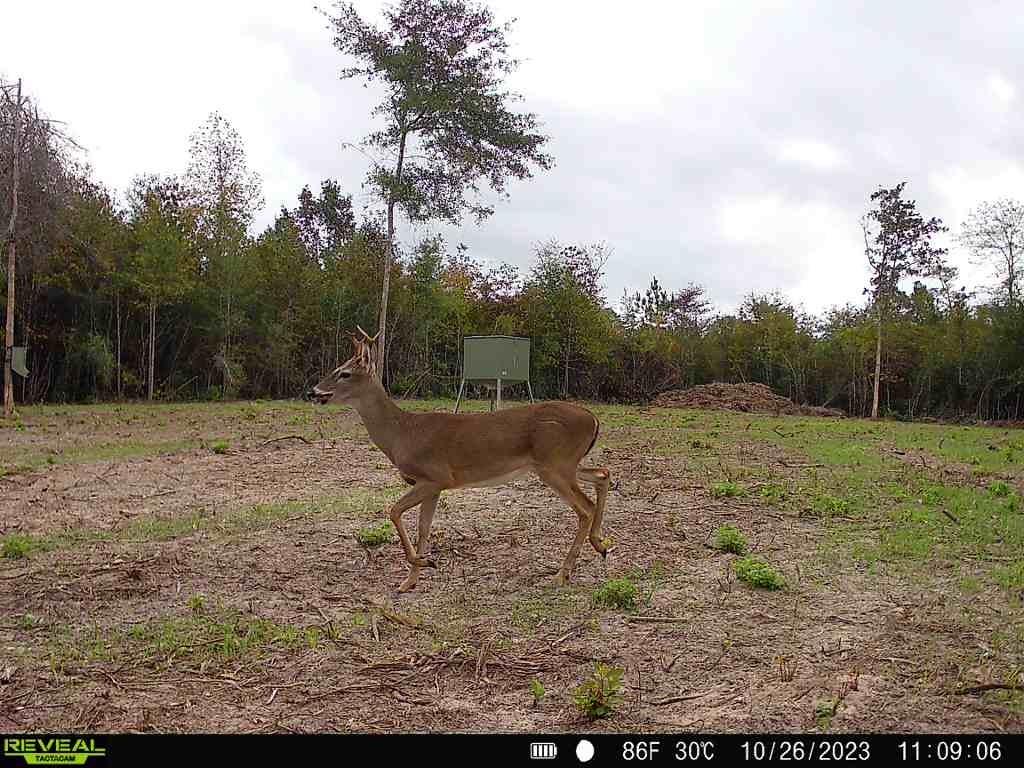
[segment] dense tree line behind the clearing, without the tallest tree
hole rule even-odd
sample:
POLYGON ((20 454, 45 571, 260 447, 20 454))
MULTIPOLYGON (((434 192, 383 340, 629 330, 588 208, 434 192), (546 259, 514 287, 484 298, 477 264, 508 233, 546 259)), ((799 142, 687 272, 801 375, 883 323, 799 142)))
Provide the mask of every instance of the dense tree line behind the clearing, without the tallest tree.
POLYGON ((219 115, 191 136, 183 174, 141 176, 123 202, 56 139, 39 140, 53 145, 26 156, 17 231, 15 342, 31 367, 15 379, 20 402, 297 396, 347 355, 350 329, 378 319, 389 263, 384 379, 397 396, 452 395, 462 339, 508 334, 530 338, 544 397, 642 402, 749 381, 866 416, 878 366, 883 415, 1022 416, 1024 206, 1014 201, 980 206, 958 232, 993 267, 984 296, 958 285, 929 245, 943 225, 898 184, 870 201, 874 279, 860 304, 814 316, 752 294, 722 312, 700 286, 655 276, 612 307, 603 244, 543 242, 523 270, 427 238, 389 261, 386 221, 358 217, 332 179, 250 233, 259 178, 219 115))

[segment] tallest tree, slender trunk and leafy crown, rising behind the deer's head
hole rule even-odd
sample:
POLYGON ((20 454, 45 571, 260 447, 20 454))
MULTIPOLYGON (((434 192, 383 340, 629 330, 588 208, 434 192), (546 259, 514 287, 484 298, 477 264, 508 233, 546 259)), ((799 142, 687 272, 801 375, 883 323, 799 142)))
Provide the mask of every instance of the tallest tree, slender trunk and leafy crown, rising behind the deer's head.
POLYGON ((527 178, 531 167, 550 168, 547 137, 537 116, 513 112, 517 96, 504 90, 517 61, 508 55, 510 25, 499 25, 473 0, 399 0, 384 13, 383 28, 364 20, 350 3, 338 3, 331 20, 335 46, 355 60, 343 78, 384 86, 374 110, 384 127, 367 136, 376 162, 369 184, 387 208, 387 252, 381 288, 381 359, 387 352, 387 309, 395 256, 394 211, 411 221, 458 223, 494 210, 476 194, 481 182, 504 194, 509 178, 527 178))

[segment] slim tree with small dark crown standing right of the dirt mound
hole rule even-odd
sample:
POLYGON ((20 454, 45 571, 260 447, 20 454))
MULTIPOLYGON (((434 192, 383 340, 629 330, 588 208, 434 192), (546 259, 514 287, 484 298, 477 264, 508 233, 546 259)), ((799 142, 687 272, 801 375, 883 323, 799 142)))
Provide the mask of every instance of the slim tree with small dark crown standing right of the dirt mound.
POLYGON ((882 383, 882 330, 892 314, 902 280, 914 275, 935 276, 944 264, 946 249, 932 245, 932 238, 947 231, 940 219, 927 221, 918 204, 903 198, 905 181, 891 189, 879 187, 871 195, 876 207, 861 220, 864 254, 871 267, 870 293, 878 330, 874 347, 874 391, 871 418, 879 418, 882 383))

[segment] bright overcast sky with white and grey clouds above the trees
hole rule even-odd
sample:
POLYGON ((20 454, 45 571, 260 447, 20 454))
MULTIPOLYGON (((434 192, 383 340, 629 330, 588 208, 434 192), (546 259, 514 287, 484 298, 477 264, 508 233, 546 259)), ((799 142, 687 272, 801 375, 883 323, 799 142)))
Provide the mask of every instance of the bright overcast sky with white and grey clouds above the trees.
MULTIPOLYGON (((657 274, 726 308, 779 291, 818 311, 860 300, 858 218, 879 184, 906 180, 951 225, 985 199, 1024 197, 1016 2, 492 7, 518 19, 510 85, 556 167, 481 226, 445 230, 478 257, 528 266, 541 241, 601 241, 612 301, 657 274)), ((183 170, 188 134, 217 110, 263 177, 258 223, 325 177, 369 204, 366 161, 342 144, 367 133, 374 93, 339 80, 312 2, 47 0, 3 17, 0 74, 68 121, 109 185, 183 170)), ((952 260, 969 285, 986 278, 952 260)))

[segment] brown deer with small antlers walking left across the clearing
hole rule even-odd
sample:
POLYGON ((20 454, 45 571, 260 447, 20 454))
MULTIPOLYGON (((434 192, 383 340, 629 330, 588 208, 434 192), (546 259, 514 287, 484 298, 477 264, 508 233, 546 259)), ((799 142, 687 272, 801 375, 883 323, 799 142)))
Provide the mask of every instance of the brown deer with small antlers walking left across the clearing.
POLYGON ((429 557, 430 527, 442 492, 503 485, 536 474, 579 518, 555 584, 570 579, 584 540, 606 558, 601 532, 611 475, 606 467, 581 462, 597 442, 600 422, 590 411, 568 402, 549 401, 485 413, 413 413, 400 409, 377 376, 377 336, 356 326, 349 334, 352 356, 327 374, 309 392, 318 404, 347 404, 362 421, 370 439, 412 487, 389 510, 391 523, 409 562, 398 592, 409 592, 421 568, 436 568, 429 557), (595 488, 591 500, 580 483, 595 488), (414 549, 402 514, 420 507, 419 538, 414 549))

